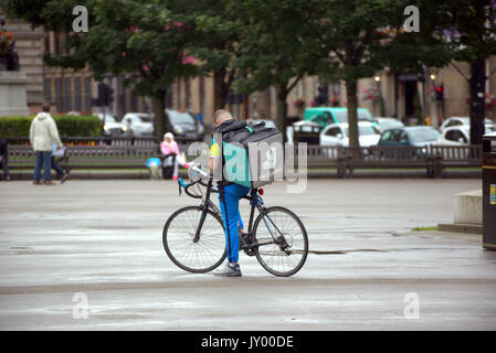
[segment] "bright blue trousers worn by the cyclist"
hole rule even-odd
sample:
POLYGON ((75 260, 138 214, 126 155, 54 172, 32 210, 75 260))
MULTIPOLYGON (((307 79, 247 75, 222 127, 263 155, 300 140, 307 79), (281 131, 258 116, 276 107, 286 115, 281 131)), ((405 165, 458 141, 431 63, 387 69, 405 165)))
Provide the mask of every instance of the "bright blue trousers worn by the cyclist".
POLYGON ((243 228, 240 214, 240 199, 250 192, 250 188, 230 184, 219 188, 219 204, 224 221, 225 244, 228 246, 228 260, 238 263, 240 253, 239 229, 243 228))

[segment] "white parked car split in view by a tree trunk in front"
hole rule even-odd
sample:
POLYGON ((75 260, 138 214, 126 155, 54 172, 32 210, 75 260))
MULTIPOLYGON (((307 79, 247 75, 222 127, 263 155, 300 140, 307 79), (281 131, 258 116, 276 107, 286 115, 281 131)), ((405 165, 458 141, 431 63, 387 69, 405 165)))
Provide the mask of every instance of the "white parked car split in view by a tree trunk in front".
MULTIPOLYGON (((380 133, 369 121, 358 122, 358 139, 361 147, 376 146, 380 133)), ((320 146, 349 146, 349 127, 347 122, 333 124, 320 132, 320 146)))

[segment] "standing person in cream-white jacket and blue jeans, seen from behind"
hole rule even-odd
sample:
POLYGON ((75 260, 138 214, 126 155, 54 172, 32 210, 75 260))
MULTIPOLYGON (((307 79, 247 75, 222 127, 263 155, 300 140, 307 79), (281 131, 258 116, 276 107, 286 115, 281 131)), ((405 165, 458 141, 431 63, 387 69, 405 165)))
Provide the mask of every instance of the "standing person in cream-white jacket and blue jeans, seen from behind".
POLYGON ((52 149, 53 142, 62 147, 59 130, 55 121, 50 115, 50 106, 43 105, 43 111, 39 113, 30 128, 30 141, 33 150, 36 152, 36 163, 34 164, 34 184, 41 184, 41 169, 43 168, 43 183, 53 185, 50 171, 52 169, 52 149))

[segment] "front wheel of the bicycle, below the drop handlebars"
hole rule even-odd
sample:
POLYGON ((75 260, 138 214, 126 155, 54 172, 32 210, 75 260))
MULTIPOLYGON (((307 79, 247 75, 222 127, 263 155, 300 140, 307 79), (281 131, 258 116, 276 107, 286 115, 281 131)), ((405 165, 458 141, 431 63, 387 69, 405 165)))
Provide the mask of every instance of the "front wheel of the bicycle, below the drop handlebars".
POLYGON ((217 268, 225 258, 222 220, 211 210, 205 215, 200 237, 194 242, 203 210, 188 206, 176 211, 163 226, 163 248, 178 267, 194 274, 217 268))

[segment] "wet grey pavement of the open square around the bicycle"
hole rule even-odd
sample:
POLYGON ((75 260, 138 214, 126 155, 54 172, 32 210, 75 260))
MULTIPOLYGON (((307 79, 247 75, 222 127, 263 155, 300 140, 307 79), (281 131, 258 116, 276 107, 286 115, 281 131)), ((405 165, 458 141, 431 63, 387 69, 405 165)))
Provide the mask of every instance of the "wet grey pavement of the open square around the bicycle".
POLYGON ((304 222, 304 268, 276 278, 242 254, 243 277, 224 279, 163 252, 168 216, 198 204, 171 181, 2 182, 0 329, 494 330, 496 252, 477 235, 411 232, 452 222, 454 194, 479 188, 321 179, 287 194, 276 183, 264 201, 304 222))

